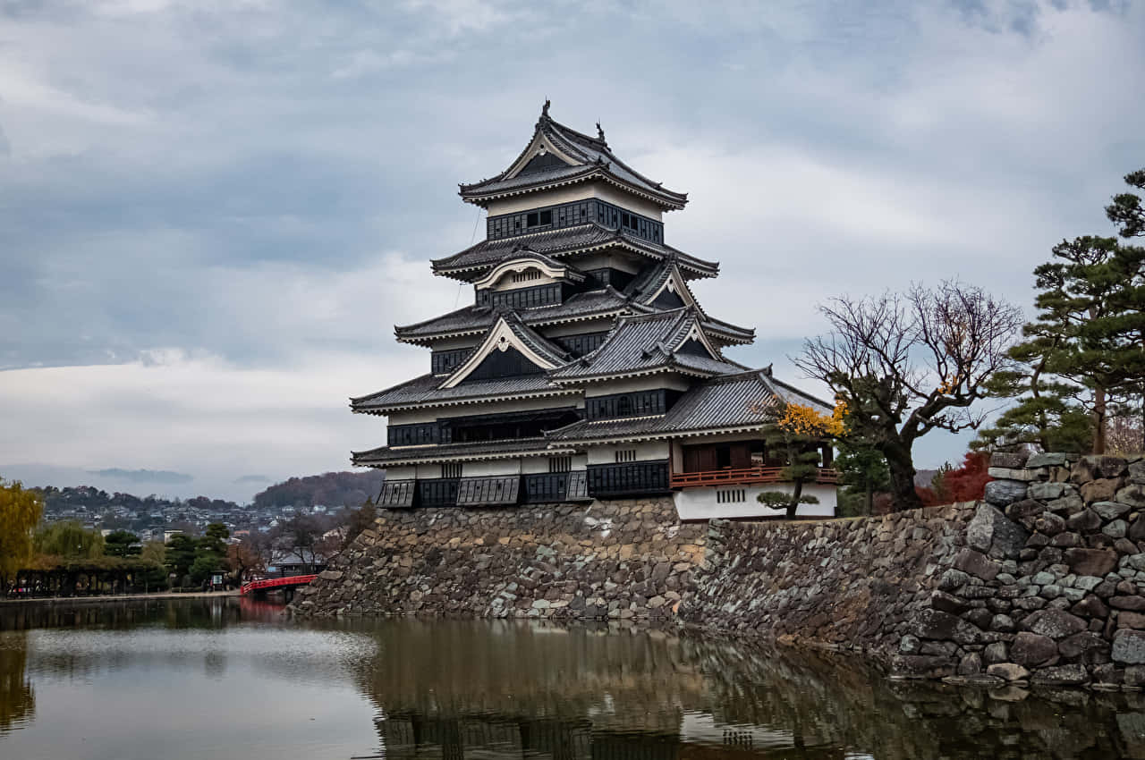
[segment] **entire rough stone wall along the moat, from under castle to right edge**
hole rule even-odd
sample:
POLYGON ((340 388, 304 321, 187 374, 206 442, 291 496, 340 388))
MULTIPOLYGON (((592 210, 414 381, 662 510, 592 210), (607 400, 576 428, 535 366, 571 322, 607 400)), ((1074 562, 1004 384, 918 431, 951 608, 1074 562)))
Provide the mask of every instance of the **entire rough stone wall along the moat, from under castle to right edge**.
POLYGON ((647 619, 984 684, 1145 687, 1145 459, 994 454, 981 502, 680 524, 668 499, 384 510, 301 615, 647 619))

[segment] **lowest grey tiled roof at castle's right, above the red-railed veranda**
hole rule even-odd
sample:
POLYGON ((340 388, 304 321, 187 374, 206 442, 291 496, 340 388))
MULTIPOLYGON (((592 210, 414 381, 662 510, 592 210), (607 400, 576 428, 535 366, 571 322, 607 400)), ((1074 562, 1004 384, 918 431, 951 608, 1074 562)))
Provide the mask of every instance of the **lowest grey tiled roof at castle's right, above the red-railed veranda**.
POLYGON ((810 404, 829 414, 831 406, 769 375, 771 370, 750 370, 710 378, 692 387, 666 414, 624 420, 581 420, 547 434, 554 444, 656 436, 685 432, 763 427, 774 421, 768 399, 780 397, 810 404))

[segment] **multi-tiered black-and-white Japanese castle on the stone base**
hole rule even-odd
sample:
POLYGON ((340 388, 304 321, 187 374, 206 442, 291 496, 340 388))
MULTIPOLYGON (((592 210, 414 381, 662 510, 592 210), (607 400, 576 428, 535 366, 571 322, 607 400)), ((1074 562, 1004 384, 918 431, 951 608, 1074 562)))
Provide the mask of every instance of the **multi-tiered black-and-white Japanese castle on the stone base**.
MULTIPOLYGON (((428 372, 352 399, 389 418, 379 505, 482 507, 671 494, 681 520, 783 514, 756 499, 785 464, 763 432, 768 403, 831 406, 724 356, 755 330, 710 316, 688 285, 719 264, 668 244, 687 195, 548 116, 507 169, 460 185, 485 239, 433 261, 473 303, 395 328, 431 349, 428 372)), ((835 512, 831 449, 804 493, 835 512)))

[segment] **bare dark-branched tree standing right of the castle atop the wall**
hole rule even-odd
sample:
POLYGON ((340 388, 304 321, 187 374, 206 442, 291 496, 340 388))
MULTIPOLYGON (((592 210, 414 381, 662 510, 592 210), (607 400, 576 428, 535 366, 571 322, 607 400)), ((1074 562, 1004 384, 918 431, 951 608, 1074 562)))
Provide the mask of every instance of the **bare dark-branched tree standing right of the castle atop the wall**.
POLYGON ((793 358, 828 383, 847 405, 846 438, 881 451, 897 507, 921 507, 911 449, 934 429, 977 428, 985 414, 971 405, 986 381, 1009 371, 1006 350, 1021 310, 978 287, 947 280, 937 288, 821 306, 834 331, 810 339, 793 358))

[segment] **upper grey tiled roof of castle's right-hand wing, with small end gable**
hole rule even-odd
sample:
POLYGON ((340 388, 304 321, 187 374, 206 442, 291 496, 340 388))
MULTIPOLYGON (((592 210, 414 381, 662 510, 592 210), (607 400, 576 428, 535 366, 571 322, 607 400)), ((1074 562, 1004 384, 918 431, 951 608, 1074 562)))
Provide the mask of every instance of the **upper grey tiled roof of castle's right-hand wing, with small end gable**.
POLYGON ((584 378, 679 369, 698 374, 741 372, 740 364, 680 351, 688 333, 700 322, 695 307, 617 319, 605 342, 548 375, 559 382, 584 378))

